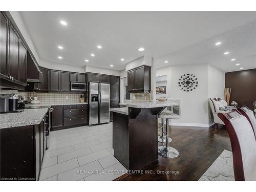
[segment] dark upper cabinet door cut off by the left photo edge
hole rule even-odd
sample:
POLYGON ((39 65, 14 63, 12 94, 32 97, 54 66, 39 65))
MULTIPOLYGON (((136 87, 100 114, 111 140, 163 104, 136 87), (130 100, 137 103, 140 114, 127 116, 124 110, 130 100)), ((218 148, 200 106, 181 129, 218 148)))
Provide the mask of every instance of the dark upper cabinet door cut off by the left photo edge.
POLYGON ((2 12, 0 13, 0 19, 0 73, 7 76, 8 20, 2 12))

